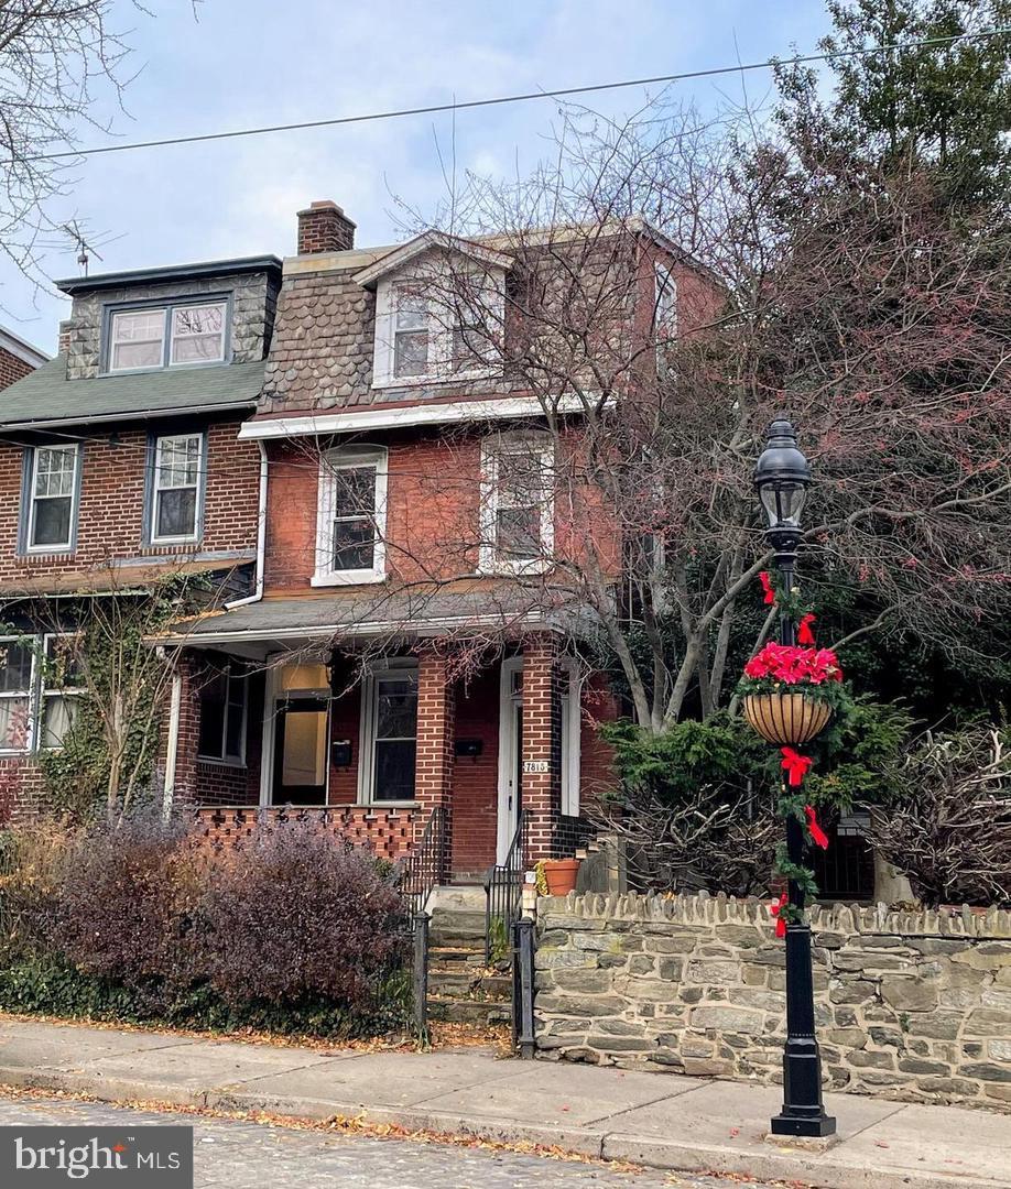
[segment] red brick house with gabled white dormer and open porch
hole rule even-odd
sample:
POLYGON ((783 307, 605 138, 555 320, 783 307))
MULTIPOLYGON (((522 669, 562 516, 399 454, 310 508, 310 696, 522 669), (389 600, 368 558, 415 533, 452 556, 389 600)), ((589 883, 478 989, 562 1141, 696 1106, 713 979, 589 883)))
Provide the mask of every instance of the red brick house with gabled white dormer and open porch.
MULTIPOLYGON (((660 281, 670 309, 697 275, 645 225, 615 235, 638 270, 634 333, 660 281)), ((563 499, 546 478, 578 454, 582 404, 548 415, 503 364, 519 272, 495 237, 358 249, 334 203, 299 214, 237 435, 263 463, 255 590, 162 640, 177 663, 164 794, 202 806, 219 841, 300 807, 397 857, 438 820, 442 874, 466 881, 521 823, 527 860, 588 836, 609 780, 596 725, 616 703, 580 656, 586 609, 552 574, 591 535, 616 589, 621 543, 578 484, 563 499), (435 313, 447 271, 478 278, 502 342, 435 313)))

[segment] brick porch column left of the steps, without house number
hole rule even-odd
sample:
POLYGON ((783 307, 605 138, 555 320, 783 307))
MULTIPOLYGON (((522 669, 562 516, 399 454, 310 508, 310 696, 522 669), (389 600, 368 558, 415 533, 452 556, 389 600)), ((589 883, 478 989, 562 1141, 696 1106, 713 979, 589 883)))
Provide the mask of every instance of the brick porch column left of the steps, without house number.
POLYGON ((426 648, 417 656, 417 760, 414 776, 414 798, 417 820, 414 828, 415 845, 421 841, 432 811, 442 809, 445 851, 441 856, 444 873, 450 867, 452 837, 453 734, 456 699, 448 679, 448 659, 442 648, 426 648))

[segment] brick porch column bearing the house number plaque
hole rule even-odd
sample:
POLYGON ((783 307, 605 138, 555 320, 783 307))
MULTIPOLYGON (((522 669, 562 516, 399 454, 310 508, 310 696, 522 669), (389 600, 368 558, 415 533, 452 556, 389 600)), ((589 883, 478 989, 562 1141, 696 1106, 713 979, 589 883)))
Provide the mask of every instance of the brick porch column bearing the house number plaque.
POLYGON ((527 858, 555 858, 561 817, 561 702, 554 637, 523 643, 522 806, 527 814, 527 858))

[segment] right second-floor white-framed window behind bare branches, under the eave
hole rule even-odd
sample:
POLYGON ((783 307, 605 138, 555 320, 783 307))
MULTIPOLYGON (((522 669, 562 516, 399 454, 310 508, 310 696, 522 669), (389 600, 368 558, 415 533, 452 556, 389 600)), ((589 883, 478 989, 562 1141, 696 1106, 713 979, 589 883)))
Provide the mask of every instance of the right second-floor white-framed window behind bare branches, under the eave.
POLYGON ((554 549, 554 449, 546 434, 496 434, 482 443, 479 565, 536 573, 554 549))

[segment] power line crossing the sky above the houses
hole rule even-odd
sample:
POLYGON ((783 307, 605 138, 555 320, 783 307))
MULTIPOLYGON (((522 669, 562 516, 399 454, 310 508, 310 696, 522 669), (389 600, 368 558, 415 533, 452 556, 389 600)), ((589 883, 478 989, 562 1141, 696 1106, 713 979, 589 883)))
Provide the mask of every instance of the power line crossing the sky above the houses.
POLYGON ((168 145, 201 144, 208 140, 233 140, 238 137, 259 137, 274 132, 299 132, 306 128, 327 128, 343 124, 368 124, 375 120, 393 120, 408 115, 434 115, 439 112, 463 112, 479 107, 500 107, 503 103, 525 103, 534 99, 560 99, 569 95, 586 95, 591 92, 621 90, 627 87, 649 87, 657 83, 684 82, 689 78, 712 78, 717 75, 743 74, 749 70, 770 70, 775 65, 800 65, 809 62, 834 62, 840 58, 868 57, 873 54, 890 54, 927 49, 932 45, 950 45, 955 42, 979 40, 1003 37, 1010 29, 992 29, 978 33, 956 33, 952 37, 931 37, 923 42, 897 42, 892 45, 872 45, 864 50, 836 50, 830 54, 806 54, 793 58, 768 58, 764 62, 737 63, 730 67, 710 67, 707 70, 686 70, 680 74, 654 75, 649 78, 626 78, 621 82, 591 83, 585 87, 559 87, 552 90, 532 90, 516 95, 498 95, 494 99, 471 99, 453 103, 432 103, 425 107, 403 107, 389 112, 368 112, 359 115, 337 115, 324 120, 303 120, 297 124, 271 124, 255 128, 233 128, 228 132, 202 132, 188 137, 165 137, 161 140, 136 140, 124 145, 101 145, 94 149, 68 150, 65 152, 36 153, 20 161, 62 161, 64 158, 98 157, 101 153, 132 152, 137 149, 163 149, 168 145))

